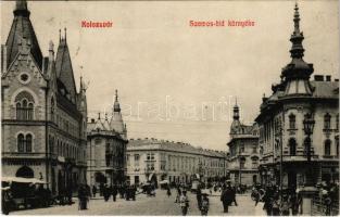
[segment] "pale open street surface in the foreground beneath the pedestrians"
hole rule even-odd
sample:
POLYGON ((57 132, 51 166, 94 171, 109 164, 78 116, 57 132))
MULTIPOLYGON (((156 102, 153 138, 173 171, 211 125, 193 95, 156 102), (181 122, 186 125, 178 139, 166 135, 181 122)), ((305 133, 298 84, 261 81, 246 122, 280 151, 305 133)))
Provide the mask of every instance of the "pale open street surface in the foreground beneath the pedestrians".
MULTIPOLYGON (((49 208, 27 209, 13 212, 10 215, 181 215, 179 204, 174 203, 175 190, 172 196, 167 197, 165 191, 158 190, 155 197, 137 195, 136 201, 125 201, 118 199, 117 202, 104 202, 103 199, 95 199, 89 203, 89 209, 78 210, 77 201, 72 206, 53 206, 49 208)), ((189 193, 190 209, 189 215, 201 215, 196 194, 189 193)), ((255 207, 249 195, 237 196, 238 206, 230 206, 226 215, 264 215, 261 206, 255 207)), ((209 215, 224 215, 219 196, 210 196, 209 215)))

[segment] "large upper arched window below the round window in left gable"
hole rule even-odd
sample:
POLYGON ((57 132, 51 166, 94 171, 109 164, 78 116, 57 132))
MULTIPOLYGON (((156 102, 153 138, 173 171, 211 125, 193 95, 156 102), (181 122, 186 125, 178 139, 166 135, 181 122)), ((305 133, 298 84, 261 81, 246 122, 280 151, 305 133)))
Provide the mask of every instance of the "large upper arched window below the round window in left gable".
POLYGON ((27 91, 22 91, 15 97, 16 119, 30 120, 34 118, 34 98, 27 91))

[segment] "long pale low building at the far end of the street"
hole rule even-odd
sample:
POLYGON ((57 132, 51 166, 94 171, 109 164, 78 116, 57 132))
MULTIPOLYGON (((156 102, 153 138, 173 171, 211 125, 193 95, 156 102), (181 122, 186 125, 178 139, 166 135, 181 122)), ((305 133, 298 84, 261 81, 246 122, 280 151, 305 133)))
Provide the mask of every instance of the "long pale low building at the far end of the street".
POLYGON ((156 139, 129 140, 127 178, 130 183, 190 182, 226 176, 226 154, 187 143, 156 139))

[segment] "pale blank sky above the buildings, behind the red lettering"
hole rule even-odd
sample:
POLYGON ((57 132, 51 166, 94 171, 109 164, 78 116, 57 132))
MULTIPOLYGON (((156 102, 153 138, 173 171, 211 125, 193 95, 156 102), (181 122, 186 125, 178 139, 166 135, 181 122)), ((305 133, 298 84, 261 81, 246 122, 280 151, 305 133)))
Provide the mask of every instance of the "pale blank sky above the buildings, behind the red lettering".
MULTIPOLYGON (((1 7, 4 43, 14 2, 1 7)), ((304 60, 314 74, 338 78, 338 1, 299 7, 304 60)), ((91 117, 109 112, 118 89, 129 138, 227 150, 236 97, 242 122, 252 123, 263 93, 270 94, 290 62, 294 1, 36 1, 28 8, 43 55, 50 40, 56 49, 59 29, 67 27, 77 85, 80 75, 90 81, 91 117), (216 20, 251 20, 255 26, 189 26, 216 20), (81 28, 81 21, 110 21, 113 27, 81 28)))

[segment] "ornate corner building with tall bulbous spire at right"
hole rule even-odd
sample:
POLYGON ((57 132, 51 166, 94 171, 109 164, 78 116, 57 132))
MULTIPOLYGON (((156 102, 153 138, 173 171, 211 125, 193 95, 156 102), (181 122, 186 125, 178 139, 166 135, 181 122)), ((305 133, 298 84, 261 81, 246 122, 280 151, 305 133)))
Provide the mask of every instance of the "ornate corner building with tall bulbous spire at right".
POLYGON ((282 68, 280 84, 272 86, 272 95, 263 98, 255 119, 262 181, 279 183, 282 168, 284 188, 305 183, 307 174, 312 174, 314 184, 339 180, 339 80, 320 75, 311 80, 314 68, 302 59, 304 37, 298 5, 293 22, 291 62, 282 68), (303 126, 308 115, 315 120, 311 137, 303 126))

